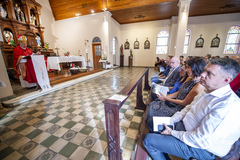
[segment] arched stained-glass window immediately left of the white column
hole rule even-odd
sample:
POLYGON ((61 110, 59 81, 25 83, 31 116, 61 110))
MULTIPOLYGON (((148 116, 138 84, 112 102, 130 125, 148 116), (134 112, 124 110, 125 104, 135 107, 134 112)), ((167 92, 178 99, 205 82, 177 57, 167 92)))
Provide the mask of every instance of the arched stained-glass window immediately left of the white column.
POLYGON ((158 33, 156 54, 167 54, 168 38, 169 38, 169 34, 167 31, 160 31, 158 33))

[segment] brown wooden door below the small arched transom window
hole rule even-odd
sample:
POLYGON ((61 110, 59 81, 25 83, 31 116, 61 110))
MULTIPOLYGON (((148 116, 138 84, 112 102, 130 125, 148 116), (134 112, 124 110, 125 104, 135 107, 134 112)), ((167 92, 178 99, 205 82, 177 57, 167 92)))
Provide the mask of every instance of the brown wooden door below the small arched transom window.
POLYGON ((99 62, 101 59, 101 43, 92 44, 92 48, 94 68, 102 68, 102 64, 99 62))

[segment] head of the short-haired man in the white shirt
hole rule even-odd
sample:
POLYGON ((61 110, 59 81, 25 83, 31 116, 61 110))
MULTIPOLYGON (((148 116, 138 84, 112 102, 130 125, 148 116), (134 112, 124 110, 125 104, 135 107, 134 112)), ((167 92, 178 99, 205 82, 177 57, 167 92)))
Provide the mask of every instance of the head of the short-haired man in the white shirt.
POLYGON ((201 74, 201 84, 212 92, 229 84, 238 74, 239 64, 230 58, 210 60, 201 74))

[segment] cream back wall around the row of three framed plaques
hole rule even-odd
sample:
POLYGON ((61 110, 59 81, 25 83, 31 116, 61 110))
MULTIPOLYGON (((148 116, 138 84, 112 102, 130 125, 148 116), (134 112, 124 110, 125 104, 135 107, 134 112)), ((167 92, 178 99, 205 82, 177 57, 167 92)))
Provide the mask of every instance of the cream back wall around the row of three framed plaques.
MULTIPOLYGON (((156 55, 156 37, 159 31, 170 32, 171 20, 151 21, 121 25, 121 44, 124 45, 126 39, 130 43, 133 51, 133 66, 153 66, 156 57, 165 59, 166 55, 156 55), (139 49, 134 49, 136 38, 139 41, 139 49), (144 49, 146 39, 150 41, 150 49, 144 49)), ((123 49, 124 66, 128 66, 129 50, 123 49)))

